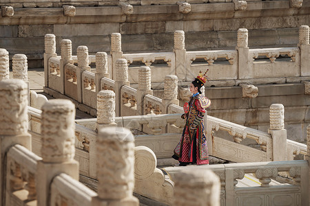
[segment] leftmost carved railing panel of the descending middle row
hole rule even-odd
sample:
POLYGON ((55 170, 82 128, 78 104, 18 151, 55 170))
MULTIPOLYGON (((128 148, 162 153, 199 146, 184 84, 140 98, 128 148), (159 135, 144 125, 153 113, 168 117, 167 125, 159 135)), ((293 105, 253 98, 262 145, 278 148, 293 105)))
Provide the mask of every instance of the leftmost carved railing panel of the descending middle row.
POLYGON ((48 60, 48 87, 61 91, 60 58, 51 57, 48 60))

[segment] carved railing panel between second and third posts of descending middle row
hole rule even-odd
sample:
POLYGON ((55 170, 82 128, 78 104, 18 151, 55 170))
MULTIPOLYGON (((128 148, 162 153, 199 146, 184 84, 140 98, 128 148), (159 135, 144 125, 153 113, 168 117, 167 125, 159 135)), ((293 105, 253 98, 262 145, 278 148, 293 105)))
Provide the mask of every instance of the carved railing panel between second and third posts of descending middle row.
POLYGON ((77 67, 72 64, 65 65, 65 95, 68 95, 74 100, 78 100, 77 91, 77 67))

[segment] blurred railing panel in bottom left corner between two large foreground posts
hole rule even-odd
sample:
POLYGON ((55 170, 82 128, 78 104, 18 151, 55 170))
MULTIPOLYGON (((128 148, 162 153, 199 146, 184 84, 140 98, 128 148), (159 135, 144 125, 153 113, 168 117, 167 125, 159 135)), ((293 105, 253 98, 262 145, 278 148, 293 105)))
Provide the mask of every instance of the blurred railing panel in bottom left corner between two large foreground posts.
POLYGON ((6 160, 6 205, 37 205, 37 161, 41 157, 21 145, 10 148, 6 160))

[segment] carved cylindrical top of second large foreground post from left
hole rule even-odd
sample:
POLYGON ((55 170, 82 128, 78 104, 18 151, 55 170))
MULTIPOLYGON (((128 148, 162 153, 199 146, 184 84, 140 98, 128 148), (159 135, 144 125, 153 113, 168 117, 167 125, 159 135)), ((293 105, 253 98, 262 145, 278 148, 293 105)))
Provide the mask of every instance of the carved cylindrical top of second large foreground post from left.
POLYGON ((41 154, 44 162, 72 161, 75 154, 75 106, 70 100, 49 100, 42 106, 41 154))

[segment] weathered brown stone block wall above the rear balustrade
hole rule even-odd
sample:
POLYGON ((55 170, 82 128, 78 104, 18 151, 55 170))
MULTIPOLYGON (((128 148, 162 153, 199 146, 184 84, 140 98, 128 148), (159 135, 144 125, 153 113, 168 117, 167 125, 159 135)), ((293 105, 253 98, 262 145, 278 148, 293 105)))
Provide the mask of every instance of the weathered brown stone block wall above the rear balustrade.
POLYGON ((227 1, 187 2, 189 13, 179 11, 176 1, 127 1, 133 12, 125 14, 119 1, 1 1, 1 5, 12 6, 14 14, 3 17, 3 11, 0 15, 0 45, 8 49, 10 59, 26 54, 32 68, 43 67, 44 35, 48 33, 56 35, 57 45, 70 38, 73 54, 79 45, 87 45, 92 54, 110 52, 114 32, 122 34, 123 52, 172 51, 175 30, 185 31, 187 50, 235 47, 240 27, 249 30, 249 47, 282 47, 296 45, 298 27, 309 25, 310 1, 304 1, 301 8, 293 8, 290 1, 249 1, 246 10, 227 1), (65 14, 63 5, 74 5, 75 15, 65 14))

